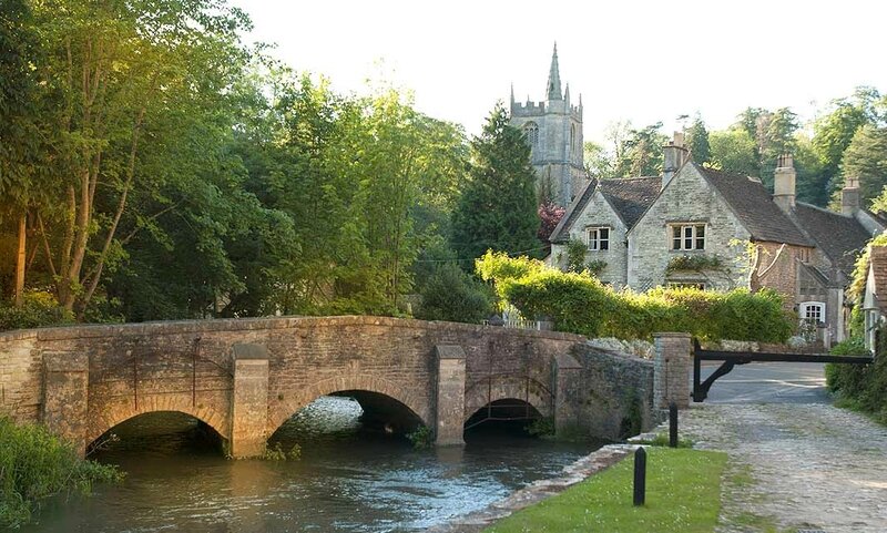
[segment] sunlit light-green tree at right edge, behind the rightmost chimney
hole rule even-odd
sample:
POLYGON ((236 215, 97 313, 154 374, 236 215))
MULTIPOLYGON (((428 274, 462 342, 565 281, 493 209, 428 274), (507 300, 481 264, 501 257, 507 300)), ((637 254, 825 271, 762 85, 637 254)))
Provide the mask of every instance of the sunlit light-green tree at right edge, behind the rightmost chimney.
POLYGON ((844 152, 840 173, 859 178, 863 201, 878 197, 887 186, 887 127, 860 127, 844 152))

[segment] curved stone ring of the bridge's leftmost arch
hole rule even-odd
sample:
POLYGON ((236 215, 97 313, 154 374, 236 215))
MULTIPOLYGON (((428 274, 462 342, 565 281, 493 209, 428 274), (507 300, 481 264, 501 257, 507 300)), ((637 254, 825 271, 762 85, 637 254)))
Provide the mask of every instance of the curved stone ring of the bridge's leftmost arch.
POLYGON ((193 406, 191 398, 176 399, 164 397, 147 397, 144 400, 140 399, 139 409, 131 406, 129 409, 114 409, 105 408, 102 410, 98 420, 90 423, 89 432, 86 433, 86 445, 95 442, 95 439, 103 435, 118 424, 126 420, 139 417, 140 414, 147 414, 152 412, 181 412, 190 417, 194 417, 206 426, 213 428, 216 433, 225 440, 231 438, 231 424, 227 413, 223 414, 212 406, 193 406))

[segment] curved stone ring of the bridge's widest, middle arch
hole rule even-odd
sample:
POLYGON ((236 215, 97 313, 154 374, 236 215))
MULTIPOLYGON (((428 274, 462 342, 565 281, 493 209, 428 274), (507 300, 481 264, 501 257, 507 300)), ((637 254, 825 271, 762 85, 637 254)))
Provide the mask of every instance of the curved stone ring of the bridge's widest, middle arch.
MULTIPOLYGON (((274 434, 289 417, 317 398, 343 391, 367 391, 386 396, 411 411, 424 424, 432 426, 431 407, 428 406, 428 401, 424 399, 424 396, 418 390, 401 387, 385 378, 361 375, 325 379, 299 390, 292 397, 283 392, 284 400, 277 402, 276 407, 273 407, 268 413, 266 434, 268 437, 274 434)), ((274 401, 275 399, 272 400, 274 401)))

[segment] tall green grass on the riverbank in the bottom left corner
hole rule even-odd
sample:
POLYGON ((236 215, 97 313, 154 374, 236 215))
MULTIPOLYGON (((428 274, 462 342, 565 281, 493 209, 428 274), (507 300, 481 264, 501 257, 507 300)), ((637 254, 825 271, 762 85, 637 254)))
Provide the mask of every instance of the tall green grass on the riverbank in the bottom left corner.
POLYGON ((121 478, 113 467, 80 459, 44 428, 0 417, 0 530, 28 522, 44 498, 121 478))

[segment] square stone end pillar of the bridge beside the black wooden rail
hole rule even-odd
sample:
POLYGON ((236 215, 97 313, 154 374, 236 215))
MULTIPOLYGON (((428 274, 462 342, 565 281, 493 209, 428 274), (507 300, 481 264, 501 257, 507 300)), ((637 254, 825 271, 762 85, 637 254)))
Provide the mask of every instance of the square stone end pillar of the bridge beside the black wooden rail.
POLYGON ((693 368, 691 336, 684 332, 653 335, 655 359, 653 371, 653 407, 679 409, 690 407, 690 371, 693 368))

